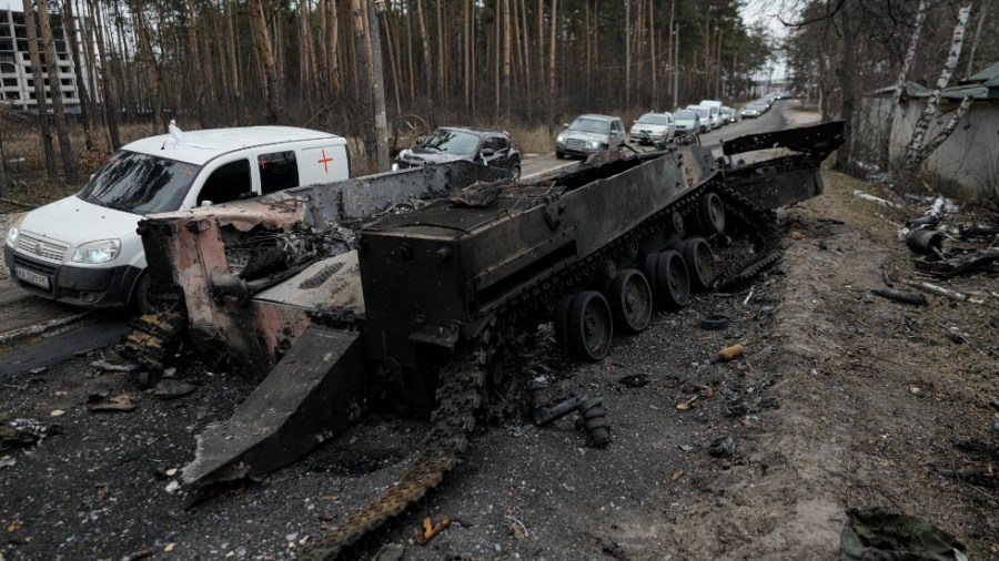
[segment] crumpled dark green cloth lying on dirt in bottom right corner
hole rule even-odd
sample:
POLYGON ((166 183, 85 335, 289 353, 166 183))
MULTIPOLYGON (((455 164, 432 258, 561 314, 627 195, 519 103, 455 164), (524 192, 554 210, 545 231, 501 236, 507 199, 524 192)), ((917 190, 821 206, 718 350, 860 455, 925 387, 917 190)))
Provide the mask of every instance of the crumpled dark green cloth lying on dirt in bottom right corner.
POLYGON ((879 508, 851 509, 839 541, 841 561, 921 559, 967 561, 965 545, 939 528, 906 514, 879 508))

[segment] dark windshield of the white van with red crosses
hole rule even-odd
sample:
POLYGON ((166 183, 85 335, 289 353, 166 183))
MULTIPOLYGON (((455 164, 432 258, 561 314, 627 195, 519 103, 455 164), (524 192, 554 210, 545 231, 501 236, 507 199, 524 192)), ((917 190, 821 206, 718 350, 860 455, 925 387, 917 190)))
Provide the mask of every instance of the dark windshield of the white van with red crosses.
POLYGON ((200 170, 176 160, 119 150, 79 196, 135 214, 176 211, 200 170))

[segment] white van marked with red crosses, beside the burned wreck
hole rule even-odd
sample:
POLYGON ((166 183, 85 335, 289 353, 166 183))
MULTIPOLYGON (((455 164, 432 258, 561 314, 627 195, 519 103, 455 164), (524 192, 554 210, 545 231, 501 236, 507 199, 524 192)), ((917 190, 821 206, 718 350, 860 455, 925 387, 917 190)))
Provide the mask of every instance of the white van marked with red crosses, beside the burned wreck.
POLYGON ((290 126, 181 132, 115 152, 83 191, 29 212, 7 233, 11 277, 83 307, 148 308, 143 215, 350 177, 343 137, 290 126))

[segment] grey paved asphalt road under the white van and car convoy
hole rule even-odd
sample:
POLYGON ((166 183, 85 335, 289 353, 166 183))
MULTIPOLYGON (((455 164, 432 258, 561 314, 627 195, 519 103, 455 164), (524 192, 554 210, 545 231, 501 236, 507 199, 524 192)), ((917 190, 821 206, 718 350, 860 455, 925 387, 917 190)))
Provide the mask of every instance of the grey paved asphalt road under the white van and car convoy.
MULTIPOLYGON (((787 110, 795 103, 779 101, 759 119, 743 120, 702 134, 700 142, 718 156, 723 140, 786 128, 793 121, 787 110)), ((557 160, 553 146, 552 153, 525 156, 523 176, 538 178, 578 164, 577 160, 557 160)), ((7 231, 6 223, 0 226, 0 231, 7 231)), ((56 364, 81 350, 117 343, 128 333, 129 319, 127 310, 82 314, 80 309, 31 296, 14 286, 10 272, 0 267, 0 379, 56 364), (52 329, 52 326, 61 327, 52 329), (42 330, 46 334, 38 335, 42 330)))

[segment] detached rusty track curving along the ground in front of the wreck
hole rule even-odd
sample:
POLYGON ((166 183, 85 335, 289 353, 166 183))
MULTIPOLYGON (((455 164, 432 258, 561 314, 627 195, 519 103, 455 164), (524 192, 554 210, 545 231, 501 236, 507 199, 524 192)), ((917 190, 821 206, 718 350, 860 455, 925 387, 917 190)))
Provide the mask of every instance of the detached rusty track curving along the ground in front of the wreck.
POLYGON ((400 514, 437 487, 457 463, 475 429, 475 411, 483 402, 485 356, 480 349, 445 366, 437 379, 437 408, 431 415, 433 429, 423 451, 398 483, 365 506, 341 526, 310 541, 299 559, 336 559, 367 532, 400 514))

